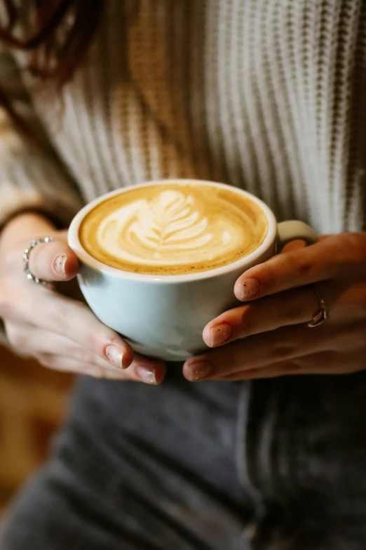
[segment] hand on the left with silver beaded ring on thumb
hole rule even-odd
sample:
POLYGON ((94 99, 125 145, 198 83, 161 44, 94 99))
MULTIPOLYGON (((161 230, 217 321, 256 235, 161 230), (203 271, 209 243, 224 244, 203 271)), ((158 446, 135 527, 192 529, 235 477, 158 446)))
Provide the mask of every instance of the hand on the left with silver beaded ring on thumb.
POLYGON ((46 218, 24 214, 11 221, 1 235, 0 316, 15 350, 51 369, 160 383, 165 374, 163 362, 134 353, 81 301, 27 280, 23 251, 33 238, 47 235, 57 242, 35 247, 29 255, 29 268, 41 279, 66 283, 78 271, 66 231, 55 231, 46 218))

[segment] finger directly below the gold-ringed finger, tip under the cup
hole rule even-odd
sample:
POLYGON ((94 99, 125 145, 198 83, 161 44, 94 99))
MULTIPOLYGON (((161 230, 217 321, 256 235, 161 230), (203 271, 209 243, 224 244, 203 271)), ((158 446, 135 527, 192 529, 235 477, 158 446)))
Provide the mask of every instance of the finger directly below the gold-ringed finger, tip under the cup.
POLYGON ((332 334, 326 323, 317 329, 296 325, 255 334, 190 358, 184 363, 183 374, 190 381, 220 380, 243 370, 269 367, 299 357, 304 348, 306 353, 323 351, 325 346, 332 349, 332 334))

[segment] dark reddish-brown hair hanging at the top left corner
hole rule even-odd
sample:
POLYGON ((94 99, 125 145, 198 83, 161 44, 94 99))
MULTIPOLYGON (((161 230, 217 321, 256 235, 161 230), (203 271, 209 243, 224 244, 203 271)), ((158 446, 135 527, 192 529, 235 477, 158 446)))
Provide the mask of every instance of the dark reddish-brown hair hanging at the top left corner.
MULTIPOLYGON (((72 78, 88 51, 102 4, 102 0, 0 0, 6 18, 4 25, 0 25, 0 41, 9 48, 29 52, 27 70, 40 81, 61 88, 72 78), (23 22, 25 4, 27 13, 32 15, 31 31, 29 36, 20 38, 16 30, 23 22)), ((1 81, 0 105, 22 131, 29 133, 1 81)))

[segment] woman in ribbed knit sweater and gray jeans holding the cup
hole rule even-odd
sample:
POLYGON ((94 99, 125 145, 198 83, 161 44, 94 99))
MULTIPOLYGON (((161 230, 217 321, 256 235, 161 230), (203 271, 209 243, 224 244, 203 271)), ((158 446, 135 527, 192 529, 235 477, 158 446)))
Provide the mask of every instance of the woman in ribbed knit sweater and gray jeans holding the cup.
POLYGON ((88 375, 1 550, 364 549, 365 3, 0 5, 0 313, 15 349, 88 375), (323 234, 243 273, 183 367, 22 270, 55 237, 29 269, 67 292, 79 207, 168 177, 323 234))

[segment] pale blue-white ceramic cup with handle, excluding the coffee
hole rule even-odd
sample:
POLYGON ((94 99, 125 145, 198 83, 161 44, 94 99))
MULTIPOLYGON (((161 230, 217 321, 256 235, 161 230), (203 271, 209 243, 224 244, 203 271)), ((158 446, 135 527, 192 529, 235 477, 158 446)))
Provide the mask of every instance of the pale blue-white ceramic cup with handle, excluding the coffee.
MULTIPOLYGON (((185 182, 227 189, 222 183, 185 182)), ((171 183, 184 180, 151 181, 136 187, 171 183)), ((109 192, 81 209, 69 228, 69 246, 79 258, 79 284, 90 308, 105 325, 122 334, 135 351, 144 355, 179 361, 205 351, 208 349, 202 339, 205 325, 240 303, 233 294, 239 275, 276 254, 290 240, 301 239, 307 244, 318 240, 309 225, 302 221, 277 223, 271 209, 260 199, 230 188, 257 203, 268 220, 264 242, 251 254, 224 267, 189 275, 144 275, 118 270, 97 261, 83 249, 79 227, 97 204, 129 189, 109 192)))

